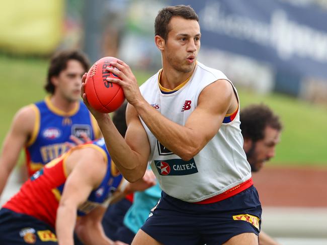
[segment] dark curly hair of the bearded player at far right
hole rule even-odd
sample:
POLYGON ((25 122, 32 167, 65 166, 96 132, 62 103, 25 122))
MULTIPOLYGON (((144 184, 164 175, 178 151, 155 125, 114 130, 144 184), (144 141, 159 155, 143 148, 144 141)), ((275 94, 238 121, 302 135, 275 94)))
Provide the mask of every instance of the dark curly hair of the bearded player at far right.
POLYGON ((279 117, 266 105, 250 105, 241 110, 240 129, 243 138, 250 138, 256 142, 265 137, 264 130, 267 126, 278 131, 282 130, 282 124, 279 117))

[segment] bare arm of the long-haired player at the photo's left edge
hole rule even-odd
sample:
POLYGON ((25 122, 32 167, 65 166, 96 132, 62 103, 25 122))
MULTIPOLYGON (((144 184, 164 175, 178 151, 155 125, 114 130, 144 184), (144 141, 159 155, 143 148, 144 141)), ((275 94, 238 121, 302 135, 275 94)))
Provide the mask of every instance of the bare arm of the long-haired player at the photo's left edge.
POLYGON ((0 156, 0 196, 16 165, 21 149, 32 136, 34 121, 35 112, 31 106, 23 107, 14 117, 0 156))

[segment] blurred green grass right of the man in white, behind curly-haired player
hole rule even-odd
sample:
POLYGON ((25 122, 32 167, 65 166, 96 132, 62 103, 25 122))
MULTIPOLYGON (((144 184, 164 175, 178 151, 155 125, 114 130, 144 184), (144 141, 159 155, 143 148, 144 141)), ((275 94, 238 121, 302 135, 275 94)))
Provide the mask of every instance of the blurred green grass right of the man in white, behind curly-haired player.
POLYGON ((239 97, 241 108, 264 103, 280 116, 283 131, 272 163, 327 166, 327 107, 280 94, 240 91, 239 97))

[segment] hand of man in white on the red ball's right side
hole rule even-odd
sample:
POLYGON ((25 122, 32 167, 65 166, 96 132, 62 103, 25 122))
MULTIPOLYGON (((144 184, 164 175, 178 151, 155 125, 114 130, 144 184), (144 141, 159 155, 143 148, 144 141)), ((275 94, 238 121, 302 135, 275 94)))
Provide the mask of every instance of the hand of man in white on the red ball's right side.
POLYGON ((113 67, 107 67, 106 69, 115 75, 119 76, 119 78, 107 77, 107 81, 110 83, 115 83, 120 85, 125 94, 125 98, 131 105, 135 105, 137 102, 143 99, 141 92, 138 88, 137 80, 131 70, 131 68, 121 60, 111 61, 110 64, 113 67), (115 69, 116 67, 117 69, 115 69))

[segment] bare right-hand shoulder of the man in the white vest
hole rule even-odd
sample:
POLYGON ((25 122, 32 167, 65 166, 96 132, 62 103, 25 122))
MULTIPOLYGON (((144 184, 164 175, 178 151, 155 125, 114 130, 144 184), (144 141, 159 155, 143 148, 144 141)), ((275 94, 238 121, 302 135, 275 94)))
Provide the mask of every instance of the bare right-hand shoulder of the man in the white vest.
POLYGON ((229 81, 216 80, 204 88, 198 99, 198 107, 211 108, 217 113, 229 113, 237 107, 237 99, 229 81))

